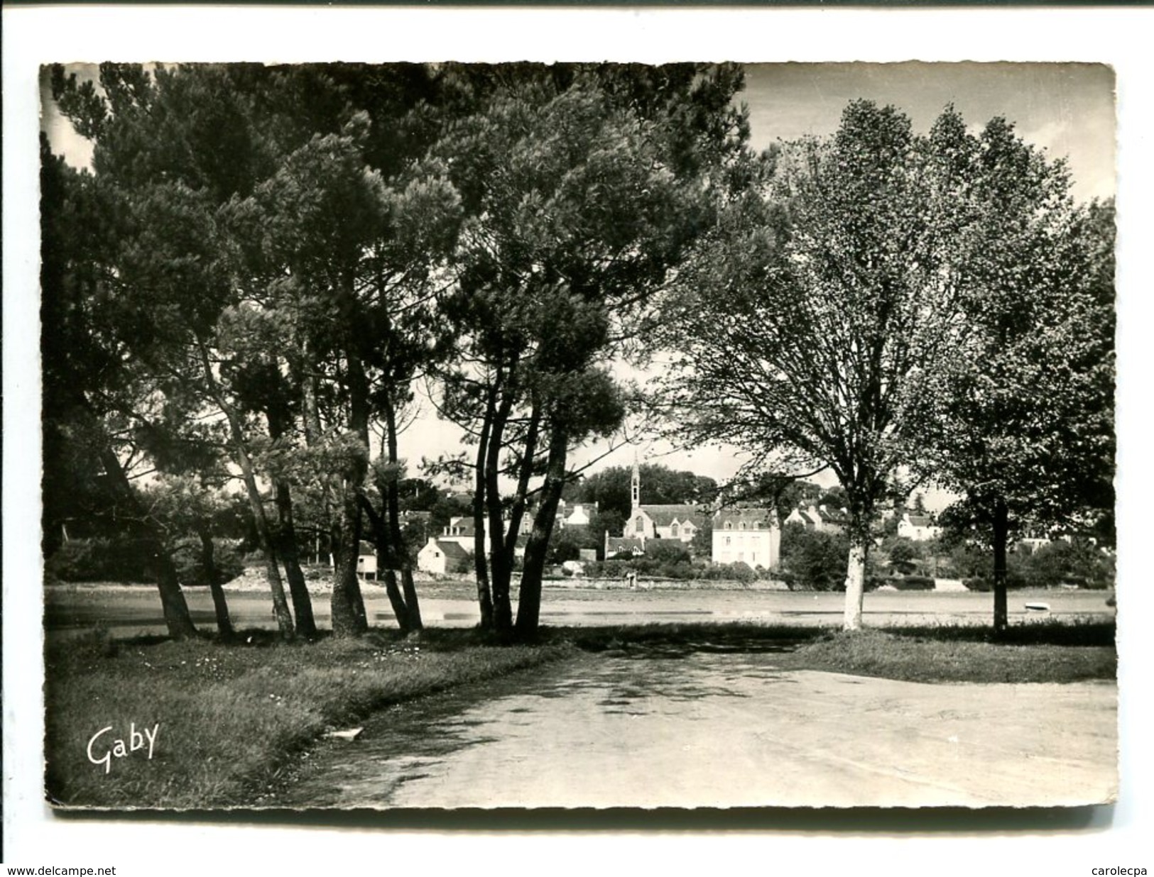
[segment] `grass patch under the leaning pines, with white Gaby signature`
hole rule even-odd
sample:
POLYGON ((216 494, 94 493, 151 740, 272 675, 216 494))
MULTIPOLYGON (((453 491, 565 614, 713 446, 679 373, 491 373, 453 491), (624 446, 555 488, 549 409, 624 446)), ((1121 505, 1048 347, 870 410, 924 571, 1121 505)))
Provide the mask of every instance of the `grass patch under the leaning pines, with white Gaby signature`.
POLYGON ((55 802, 140 808, 247 806, 292 756, 372 710, 538 666, 564 644, 493 648, 471 632, 420 644, 389 632, 354 642, 113 643, 92 635, 46 653, 46 791, 55 802), (147 733, 155 729, 152 757, 147 733), (123 740, 126 755, 98 761, 123 740), (130 734, 133 726, 140 735, 130 734), (133 751, 133 743, 140 748, 133 751))

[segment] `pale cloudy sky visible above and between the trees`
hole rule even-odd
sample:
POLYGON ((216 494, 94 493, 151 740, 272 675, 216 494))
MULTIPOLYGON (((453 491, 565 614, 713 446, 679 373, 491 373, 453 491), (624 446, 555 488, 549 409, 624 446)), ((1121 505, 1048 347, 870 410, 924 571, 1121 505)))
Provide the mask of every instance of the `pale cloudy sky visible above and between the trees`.
MULTIPOLYGON (((80 76, 93 76, 93 65, 76 65, 80 76)), ((91 159, 91 148, 72 131, 51 105, 42 75, 42 127, 57 151, 78 166, 91 159)), ((1073 195, 1079 201, 1115 194, 1115 75, 1106 65, 1093 63, 765 63, 747 67, 745 89, 740 96, 749 107, 750 142, 762 150, 777 141, 832 134, 846 105, 857 98, 893 105, 909 116, 915 130, 926 131, 946 105, 952 104, 973 130, 990 119, 1004 116, 1019 135, 1042 148, 1051 159, 1069 161, 1073 195)), ((624 369, 628 370, 628 369, 624 369)), ((452 424, 440 421, 426 400, 413 424, 400 438, 400 453, 410 460, 411 474, 422 456, 435 459, 462 448, 452 424)), ((691 469, 725 481, 741 464, 735 448, 675 449, 643 443, 607 453, 605 443, 578 449, 572 459, 590 471, 606 466, 627 466, 638 454, 643 460, 691 469)), ((823 474, 815 478, 832 484, 823 474)), ((947 497, 931 494, 929 505, 944 505, 947 497)))

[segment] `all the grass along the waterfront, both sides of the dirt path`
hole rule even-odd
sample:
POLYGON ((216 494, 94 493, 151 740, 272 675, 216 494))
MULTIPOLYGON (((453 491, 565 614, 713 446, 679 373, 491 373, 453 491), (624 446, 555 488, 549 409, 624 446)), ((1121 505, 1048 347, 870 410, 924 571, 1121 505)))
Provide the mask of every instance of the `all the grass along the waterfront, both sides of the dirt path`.
POLYGON ((46 788, 66 806, 247 807, 283 779, 328 729, 382 706, 584 652, 677 655, 771 651, 781 670, 917 682, 1115 680, 1114 625, 1031 623, 994 637, 975 626, 827 629, 752 623, 542 628, 539 643, 499 648, 474 630, 429 629, 415 643, 374 630, 357 641, 285 644, 268 633, 240 643, 113 642, 50 637, 46 788), (159 727, 155 726, 159 723, 159 727), (134 729, 141 748, 130 749, 134 729), (125 741, 108 770, 99 759, 125 741), (155 728, 153 756, 143 736, 155 728))

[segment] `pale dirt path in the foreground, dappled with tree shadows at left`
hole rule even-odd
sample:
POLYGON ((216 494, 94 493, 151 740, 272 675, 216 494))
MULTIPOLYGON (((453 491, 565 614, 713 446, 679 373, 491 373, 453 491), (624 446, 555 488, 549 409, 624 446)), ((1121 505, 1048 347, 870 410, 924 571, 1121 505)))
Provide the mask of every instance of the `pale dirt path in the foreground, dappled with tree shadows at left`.
POLYGON ((1061 806, 1116 792, 1111 683, 921 685, 587 656, 398 706, 276 807, 1061 806))

